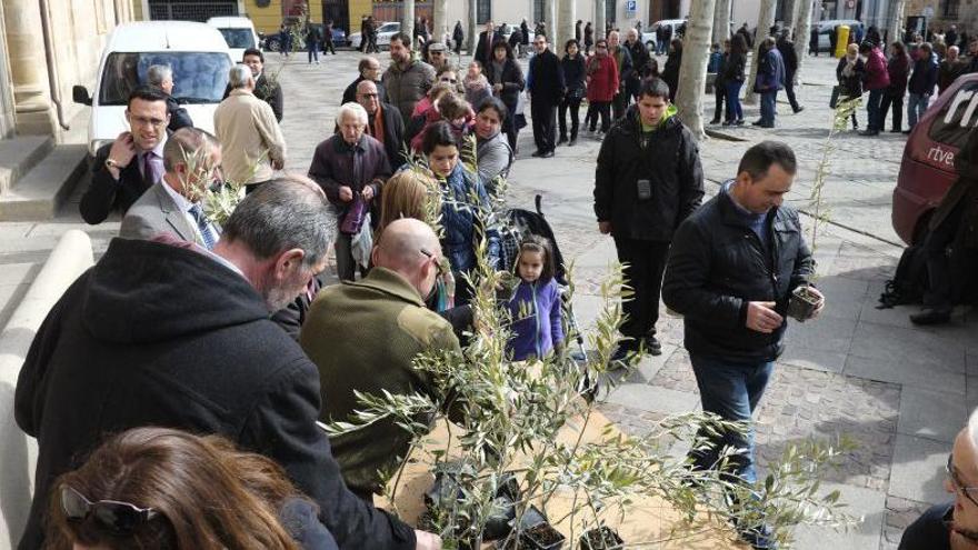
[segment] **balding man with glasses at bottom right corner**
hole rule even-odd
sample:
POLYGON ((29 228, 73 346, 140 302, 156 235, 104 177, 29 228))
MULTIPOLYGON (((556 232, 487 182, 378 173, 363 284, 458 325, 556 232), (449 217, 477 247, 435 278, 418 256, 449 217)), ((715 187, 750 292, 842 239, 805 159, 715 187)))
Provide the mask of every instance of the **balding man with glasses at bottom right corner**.
POLYGON ((978 410, 955 438, 946 468, 944 487, 954 501, 924 512, 904 531, 899 550, 978 548, 978 410))

